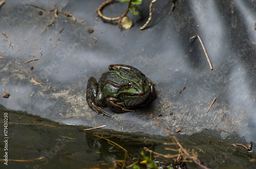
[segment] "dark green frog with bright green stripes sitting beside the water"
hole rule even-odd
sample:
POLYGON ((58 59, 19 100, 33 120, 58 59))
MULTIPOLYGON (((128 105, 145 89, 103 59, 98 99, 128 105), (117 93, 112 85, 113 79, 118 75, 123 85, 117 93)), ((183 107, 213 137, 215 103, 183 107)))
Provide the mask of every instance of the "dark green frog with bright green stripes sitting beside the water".
POLYGON ((98 114, 111 117, 102 109, 106 105, 117 113, 134 112, 130 109, 145 106, 156 99, 155 84, 137 68, 114 64, 109 69, 98 83, 91 77, 87 84, 87 103, 98 114))

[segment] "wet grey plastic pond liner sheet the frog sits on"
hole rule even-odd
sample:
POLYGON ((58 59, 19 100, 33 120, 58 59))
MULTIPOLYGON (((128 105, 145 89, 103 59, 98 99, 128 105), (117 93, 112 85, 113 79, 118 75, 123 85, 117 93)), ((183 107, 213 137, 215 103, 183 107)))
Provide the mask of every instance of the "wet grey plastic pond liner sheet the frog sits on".
MULTIPOLYGON (((8 99, 0 98, 1 107, 63 124, 165 135, 149 116, 153 114, 162 126, 181 129, 181 134, 220 128, 245 142, 255 142, 255 3, 175 1, 169 15, 170 1, 159 0, 153 5, 152 21, 141 31, 150 1, 139 6, 142 16, 129 14, 134 21, 130 30, 97 17, 103 1, 22 2, 8 1, 0 10, 1 31, 11 40, 9 46, 1 35, 0 55, 5 58, 0 60, 1 93, 10 93, 8 99), (47 28, 54 12, 30 5, 62 10, 47 28), (68 12, 76 22, 65 16, 68 12), (89 34, 88 28, 94 32, 89 34), (188 42, 195 34, 201 37, 213 70, 199 40, 188 42), (112 118, 97 115, 86 102, 87 81, 90 77, 99 80, 110 64, 141 70, 156 84, 164 105, 158 98, 136 112, 117 114, 104 108, 112 118), (165 105, 170 107, 165 109, 165 105)), ((126 5, 112 4, 103 14, 119 16, 126 5)))

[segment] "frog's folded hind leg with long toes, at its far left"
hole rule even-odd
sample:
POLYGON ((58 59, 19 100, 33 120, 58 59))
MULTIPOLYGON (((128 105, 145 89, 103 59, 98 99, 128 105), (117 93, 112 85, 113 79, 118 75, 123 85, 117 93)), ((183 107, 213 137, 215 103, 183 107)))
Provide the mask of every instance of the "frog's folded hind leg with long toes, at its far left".
POLYGON ((91 77, 87 83, 87 92, 86 92, 86 101, 91 109, 96 113, 102 113, 108 117, 111 117, 109 114, 106 114, 101 107, 106 106, 104 99, 102 98, 101 91, 99 90, 99 85, 95 78, 91 77))

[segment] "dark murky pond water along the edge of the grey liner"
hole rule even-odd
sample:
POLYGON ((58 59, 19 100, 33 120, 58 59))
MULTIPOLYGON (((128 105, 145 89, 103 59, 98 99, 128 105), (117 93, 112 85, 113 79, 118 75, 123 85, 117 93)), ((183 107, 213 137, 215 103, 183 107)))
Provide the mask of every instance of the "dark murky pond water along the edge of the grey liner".
MULTIPOLYGON (((165 150, 170 146, 163 142, 172 142, 167 137, 118 133, 103 128, 79 131, 84 127, 59 125, 23 112, 1 110, 0 116, 0 159, 5 159, 6 153, 8 155, 8 162, 2 160, 0 168, 122 168, 139 161, 144 147, 161 154, 177 154, 165 150), (6 128, 5 115, 8 116, 6 128), (8 132, 6 136, 5 132, 8 132)), ((233 147, 229 142, 232 136, 221 139, 218 133, 205 130, 179 139, 184 148, 194 149, 200 161, 209 168, 256 168, 255 151, 233 147)), ((167 160, 158 157, 156 161, 167 160)), ((186 162, 186 165, 200 168, 194 163, 186 162)))

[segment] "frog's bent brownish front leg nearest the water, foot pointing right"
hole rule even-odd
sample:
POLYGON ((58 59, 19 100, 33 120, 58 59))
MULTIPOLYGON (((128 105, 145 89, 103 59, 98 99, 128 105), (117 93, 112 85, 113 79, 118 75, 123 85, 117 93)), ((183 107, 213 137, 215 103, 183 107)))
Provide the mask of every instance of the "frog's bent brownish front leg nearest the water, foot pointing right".
POLYGON ((123 102, 120 99, 107 98, 106 104, 112 111, 117 113, 134 112, 133 110, 128 110, 124 107, 123 102))

